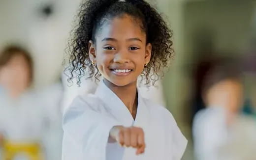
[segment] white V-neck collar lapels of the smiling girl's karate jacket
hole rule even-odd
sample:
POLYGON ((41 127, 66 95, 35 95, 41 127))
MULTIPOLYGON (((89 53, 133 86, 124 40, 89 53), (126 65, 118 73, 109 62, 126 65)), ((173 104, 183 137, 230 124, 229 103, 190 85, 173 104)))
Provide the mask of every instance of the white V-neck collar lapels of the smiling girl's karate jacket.
POLYGON ((122 100, 110 89, 106 86, 106 84, 101 80, 99 85, 96 89, 95 95, 100 98, 106 106, 109 108, 110 112, 113 116, 120 121, 123 126, 130 127, 130 126, 137 126, 142 127, 145 123, 149 121, 149 110, 144 104, 144 100, 140 95, 138 90, 138 106, 135 120, 122 102, 122 100))

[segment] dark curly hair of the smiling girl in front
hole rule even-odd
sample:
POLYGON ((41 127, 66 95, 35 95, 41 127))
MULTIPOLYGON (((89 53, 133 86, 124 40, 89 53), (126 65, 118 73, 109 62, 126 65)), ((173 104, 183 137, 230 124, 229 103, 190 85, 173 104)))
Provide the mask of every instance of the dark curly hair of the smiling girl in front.
POLYGON ((68 43, 70 57, 66 70, 70 72, 67 75, 69 82, 76 78, 79 85, 85 71, 88 71, 87 78, 94 76, 98 80, 101 75, 89 59, 89 41, 95 42, 96 32, 106 19, 123 14, 140 21, 147 43, 152 44, 151 60, 141 74, 142 79, 146 80, 147 86, 159 80, 160 70, 168 65, 174 51, 172 31, 157 10, 144 0, 86 0, 81 4, 78 25, 71 31, 73 35, 68 43))

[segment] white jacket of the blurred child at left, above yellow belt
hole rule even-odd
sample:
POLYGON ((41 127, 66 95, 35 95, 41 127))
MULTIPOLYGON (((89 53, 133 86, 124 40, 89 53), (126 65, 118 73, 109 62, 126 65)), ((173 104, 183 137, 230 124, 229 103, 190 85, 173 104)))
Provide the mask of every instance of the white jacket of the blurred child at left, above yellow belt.
MULTIPOLYGON (((18 99, 1 95, 0 129, 5 138, 14 142, 41 139, 45 123, 60 119, 60 85, 40 92, 27 92, 18 99)), ((60 120, 59 120, 60 121, 60 120)))

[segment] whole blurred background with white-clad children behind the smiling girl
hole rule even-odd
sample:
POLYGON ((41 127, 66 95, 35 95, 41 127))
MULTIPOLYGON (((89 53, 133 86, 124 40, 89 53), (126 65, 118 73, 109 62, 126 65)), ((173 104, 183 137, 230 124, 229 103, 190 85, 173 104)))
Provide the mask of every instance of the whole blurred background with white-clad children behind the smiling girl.
MULTIPOLYGON (((256 0, 148 1, 174 32, 158 99, 189 140, 183 160, 256 160, 256 0)), ((62 112, 95 89, 63 76, 80 2, 0 0, 1 160, 61 160, 62 112)))

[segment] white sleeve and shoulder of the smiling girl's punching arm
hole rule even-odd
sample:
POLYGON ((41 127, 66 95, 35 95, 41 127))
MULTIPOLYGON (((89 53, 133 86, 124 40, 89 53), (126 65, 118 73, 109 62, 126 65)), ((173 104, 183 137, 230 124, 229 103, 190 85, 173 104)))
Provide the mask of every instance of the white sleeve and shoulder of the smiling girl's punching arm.
POLYGON ((62 160, 106 160, 109 131, 117 125, 120 123, 111 116, 75 99, 64 114, 62 160), (76 105, 82 107, 74 107, 76 105))

